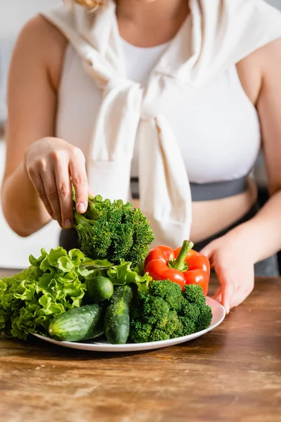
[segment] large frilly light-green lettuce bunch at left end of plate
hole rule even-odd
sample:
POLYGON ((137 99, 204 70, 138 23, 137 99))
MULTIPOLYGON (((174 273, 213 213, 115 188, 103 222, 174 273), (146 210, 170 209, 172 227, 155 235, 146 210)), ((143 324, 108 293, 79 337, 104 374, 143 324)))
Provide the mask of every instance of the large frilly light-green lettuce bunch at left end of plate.
POLYGON ((0 280, 0 333, 26 339, 28 333, 45 334, 54 316, 81 306, 86 284, 84 255, 78 250, 41 249, 30 267, 0 280))

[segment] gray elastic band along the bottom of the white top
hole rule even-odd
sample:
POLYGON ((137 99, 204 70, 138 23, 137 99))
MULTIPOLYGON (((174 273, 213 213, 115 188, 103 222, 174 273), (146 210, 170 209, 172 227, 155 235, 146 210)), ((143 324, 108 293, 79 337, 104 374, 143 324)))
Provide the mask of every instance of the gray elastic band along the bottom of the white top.
MULTIPOLYGON (((215 181, 213 183, 190 183, 191 197, 194 201, 215 200, 239 195, 247 190, 248 177, 240 177, 228 181, 215 181)), ((134 199, 138 199, 138 178, 131 178, 131 191, 134 199)))

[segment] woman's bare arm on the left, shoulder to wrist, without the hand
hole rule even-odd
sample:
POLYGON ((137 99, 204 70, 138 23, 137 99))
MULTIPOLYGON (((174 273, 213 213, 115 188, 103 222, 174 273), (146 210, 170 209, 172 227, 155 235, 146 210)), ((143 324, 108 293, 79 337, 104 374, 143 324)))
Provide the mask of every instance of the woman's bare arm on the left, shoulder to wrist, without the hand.
POLYGON ((37 17, 23 28, 13 51, 8 78, 7 153, 1 198, 7 222, 20 236, 32 234, 51 220, 23 159, 32 143, 54 135, 55 90, 64 48, 63 37, 55 34, 55 29, 43 18, 37 17))

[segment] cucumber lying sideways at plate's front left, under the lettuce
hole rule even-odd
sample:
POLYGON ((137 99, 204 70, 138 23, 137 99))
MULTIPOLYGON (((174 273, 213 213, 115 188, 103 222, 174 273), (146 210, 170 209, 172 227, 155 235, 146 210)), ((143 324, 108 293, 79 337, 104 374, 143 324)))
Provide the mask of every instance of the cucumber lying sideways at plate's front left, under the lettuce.
POLYGON ((103 305, 85 305, 70 309, 51 321, 48 333, 55 340, 81 341, 103 334, 100 319, 103 318, 103 305))

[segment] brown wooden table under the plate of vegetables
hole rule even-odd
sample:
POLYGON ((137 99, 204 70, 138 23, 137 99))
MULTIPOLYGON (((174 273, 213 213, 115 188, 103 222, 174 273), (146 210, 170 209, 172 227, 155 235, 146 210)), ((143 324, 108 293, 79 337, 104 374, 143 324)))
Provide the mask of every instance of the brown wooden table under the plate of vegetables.
POLYGON ((281 421, 281 279, 257 279, 207 335, 152 352, 2 337, 0 390, 1 422, 281 421))

